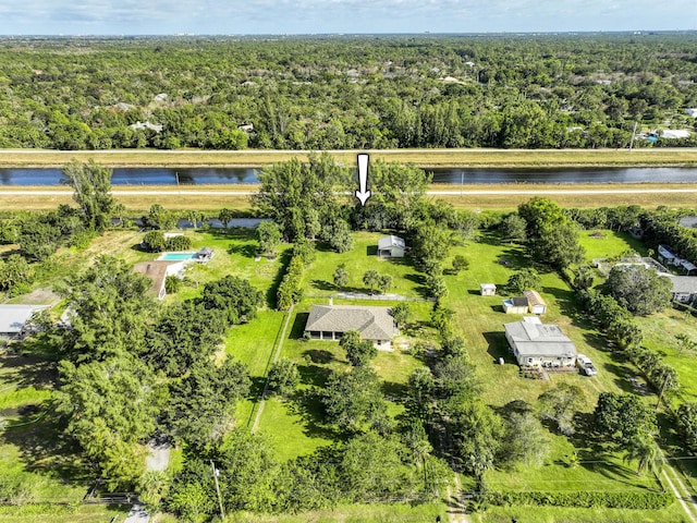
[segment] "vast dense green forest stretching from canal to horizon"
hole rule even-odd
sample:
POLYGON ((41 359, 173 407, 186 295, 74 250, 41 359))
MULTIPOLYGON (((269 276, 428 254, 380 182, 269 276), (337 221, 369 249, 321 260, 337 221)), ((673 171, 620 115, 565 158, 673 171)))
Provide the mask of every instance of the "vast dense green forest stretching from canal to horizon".
POLYGON ((625 147, 634 122, 694 126, 696 49, 689 34, 3 39, 0 147, 625 147))

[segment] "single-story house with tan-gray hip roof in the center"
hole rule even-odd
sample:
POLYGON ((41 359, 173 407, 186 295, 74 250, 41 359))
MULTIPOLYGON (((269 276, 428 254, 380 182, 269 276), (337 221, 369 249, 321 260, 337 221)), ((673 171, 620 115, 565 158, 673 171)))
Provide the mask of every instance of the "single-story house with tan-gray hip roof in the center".
POLYGON ((390 350, 399 331, 390 307, 357 305, 313 305, 305 324, 311 340, 340 341, 344 332, 357 330, 360 338, 372 341, 380 350, 390 350))

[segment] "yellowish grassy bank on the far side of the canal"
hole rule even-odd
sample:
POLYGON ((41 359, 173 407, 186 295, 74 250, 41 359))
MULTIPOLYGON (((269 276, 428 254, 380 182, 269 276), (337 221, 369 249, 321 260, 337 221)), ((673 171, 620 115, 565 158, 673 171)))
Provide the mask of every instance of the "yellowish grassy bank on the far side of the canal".
MULTIPOLYGON (((392 149, 329 151, 338 161, 355 163, 356 154, 418 167, 562 168, 562 167, 697 167, 697 148, 661 149, 392 149)), ((301 150, 0 150, 0 168, 62 167, 71 159, 93 158, 110 167, 262 167, 301 150)))

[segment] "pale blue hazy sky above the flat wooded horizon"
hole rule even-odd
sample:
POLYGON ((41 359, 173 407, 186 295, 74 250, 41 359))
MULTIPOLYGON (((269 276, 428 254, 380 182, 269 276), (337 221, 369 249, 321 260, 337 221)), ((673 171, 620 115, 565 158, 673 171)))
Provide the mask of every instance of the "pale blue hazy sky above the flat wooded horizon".
POLYGON ((697 0, 0 0, 0 35, 697 29, 697 0))

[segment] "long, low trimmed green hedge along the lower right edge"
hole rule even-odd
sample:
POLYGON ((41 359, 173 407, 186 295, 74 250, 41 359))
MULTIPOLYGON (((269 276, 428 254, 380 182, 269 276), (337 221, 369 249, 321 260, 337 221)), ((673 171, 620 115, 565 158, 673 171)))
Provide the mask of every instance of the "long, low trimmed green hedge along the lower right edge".
POLYGON ((675 500, 669 492, 651 491, 541 491, 529 492, 489 492, 486 501, 491 504, 508 506, 550 506, 608 509, 657 510, 668 507, 675 500))

